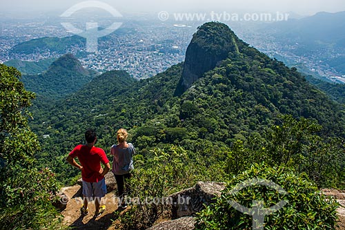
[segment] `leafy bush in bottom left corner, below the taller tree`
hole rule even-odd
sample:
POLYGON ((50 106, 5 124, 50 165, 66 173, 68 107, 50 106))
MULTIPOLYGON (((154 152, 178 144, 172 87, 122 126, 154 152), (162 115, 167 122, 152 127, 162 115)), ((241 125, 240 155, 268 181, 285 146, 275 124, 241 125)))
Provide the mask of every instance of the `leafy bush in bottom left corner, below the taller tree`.
POLYGON ((52 206, 58 191, 54 173, 10 166, 0 178, 0 229, 63 229, 62 216, 52 206))

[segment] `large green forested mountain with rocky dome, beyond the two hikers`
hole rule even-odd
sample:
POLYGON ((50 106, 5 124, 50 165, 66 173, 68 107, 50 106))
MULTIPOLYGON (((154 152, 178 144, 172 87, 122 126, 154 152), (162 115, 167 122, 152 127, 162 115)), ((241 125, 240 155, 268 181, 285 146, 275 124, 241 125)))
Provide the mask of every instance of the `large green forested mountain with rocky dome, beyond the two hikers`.
MULTIPOLYGON (((257 147, 266 146, 269 133, 282 124, 282 115, 311 118, 324 127, 317 131, 324 138, 344 137, 340 104, 311 86, 295 68, 251 48, 224 26, 206 23, 194 35, 193 41, 219 49, 224 45, 221 41, 231 41, 233 49, 216 61, 215 68, 199 73, 181 96, 174 93, 181 87, 178 83, 190 76, 182 75, 184 63, 141 81, 110 71, 77 93, 34 109, 30 124, 42 143, 37 154, 40 164, 51 166, 60 180, 68 182, 77 171, 70 171, 64 159, 75 144, 83 143, 89 127, 97 129, 97 144, 106 151, 115 144, 117 128, 124 127, 142 160, 148 160, 156 146, 179 144, 190 156, 199 155, 201 165, 224 160, 224 153, 238 140, 254 138, 257 147), (228 37, 219 39, 219 34, 228 37)), ((201 46, 187 56, 202 59, 207 54, 201 46)))

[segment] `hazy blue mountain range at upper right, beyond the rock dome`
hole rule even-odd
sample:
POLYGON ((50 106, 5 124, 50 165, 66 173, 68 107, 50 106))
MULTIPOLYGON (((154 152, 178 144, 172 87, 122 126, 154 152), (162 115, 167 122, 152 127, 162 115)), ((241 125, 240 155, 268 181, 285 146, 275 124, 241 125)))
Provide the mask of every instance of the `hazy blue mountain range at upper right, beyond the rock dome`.
POLYGON ((345 75, 345 12, 319 12, 311 17, 279 21, 260 30, 290 46, 288 52, 313 57, 345 75))

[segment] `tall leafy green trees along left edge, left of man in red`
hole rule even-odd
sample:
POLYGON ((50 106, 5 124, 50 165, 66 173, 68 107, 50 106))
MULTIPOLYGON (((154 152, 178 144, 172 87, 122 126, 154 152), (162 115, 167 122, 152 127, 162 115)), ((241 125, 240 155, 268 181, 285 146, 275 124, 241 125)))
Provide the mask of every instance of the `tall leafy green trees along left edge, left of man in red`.
POLYGON ((26 111, 34 94, 19 77, 15 68, 0 64, 0 229, 60 229, 61 215, 52 206, 55 175, 35 168, 39 143, 26 111))

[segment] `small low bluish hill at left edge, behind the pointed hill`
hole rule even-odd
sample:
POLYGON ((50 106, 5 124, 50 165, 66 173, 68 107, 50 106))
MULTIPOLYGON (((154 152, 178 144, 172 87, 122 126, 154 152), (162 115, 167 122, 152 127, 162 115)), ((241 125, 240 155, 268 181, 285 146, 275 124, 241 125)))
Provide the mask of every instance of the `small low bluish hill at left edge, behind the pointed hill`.
POLYGON ((21 61, 14 59, 6 61, 3 64, 17 68, 23 75, 36 75, 48 70, 55 59, 43 59, 41 61, 21 61))

